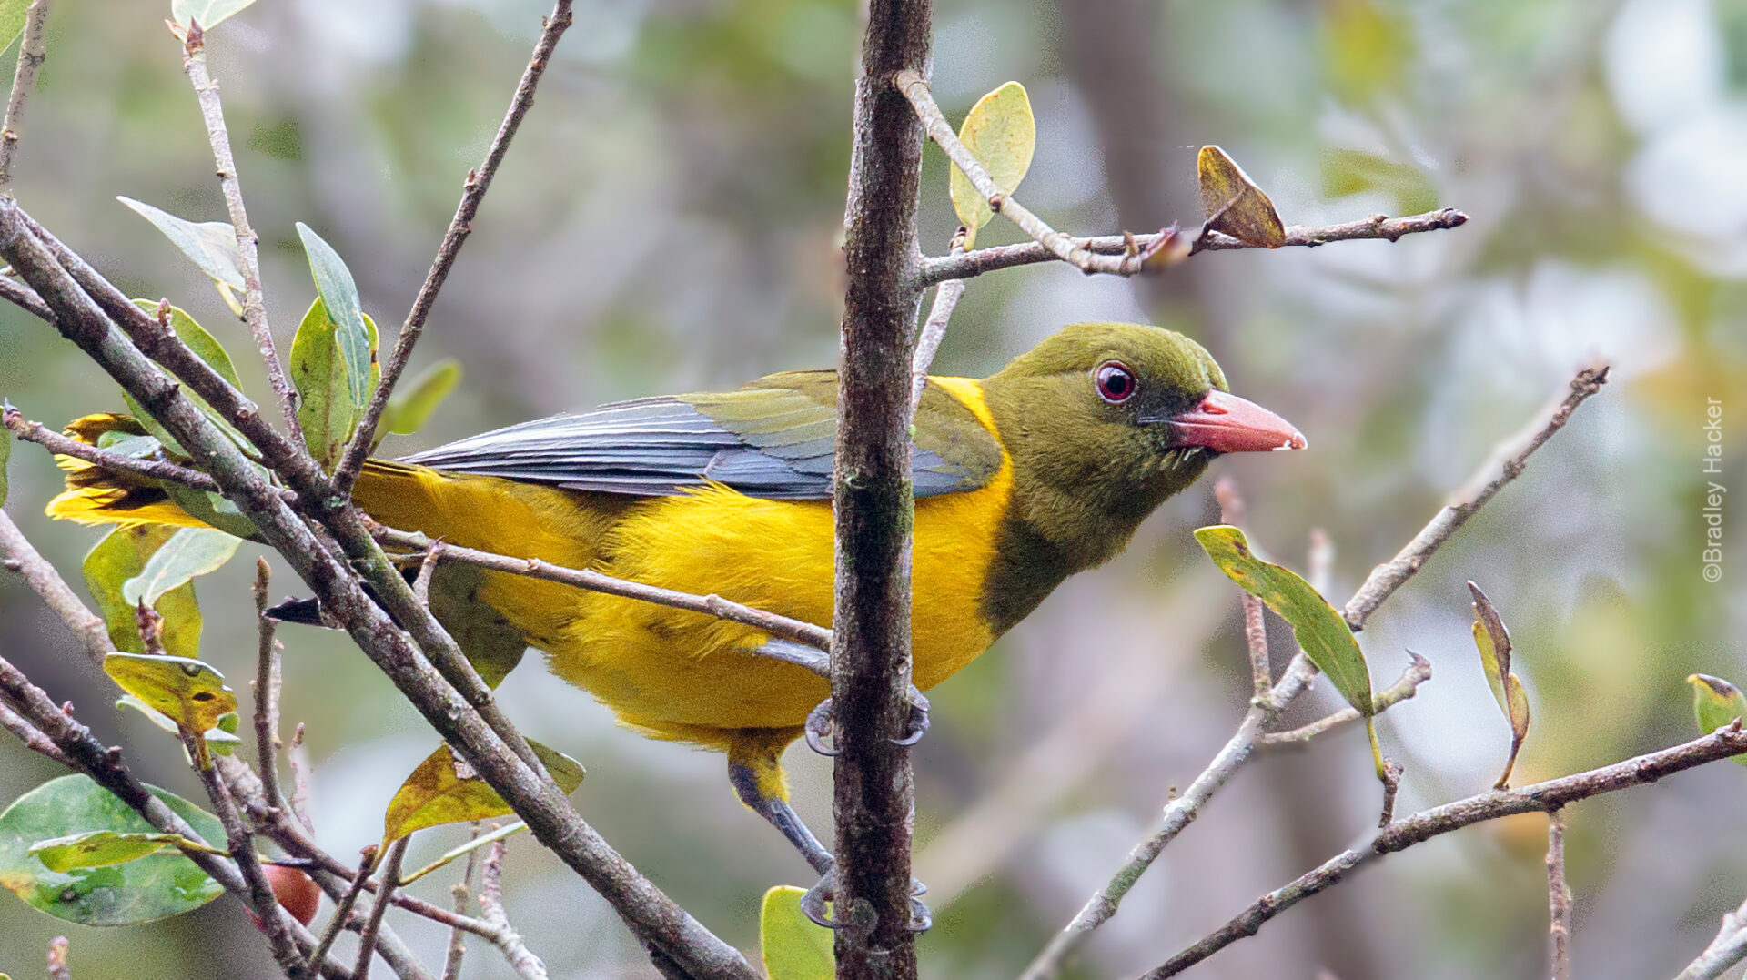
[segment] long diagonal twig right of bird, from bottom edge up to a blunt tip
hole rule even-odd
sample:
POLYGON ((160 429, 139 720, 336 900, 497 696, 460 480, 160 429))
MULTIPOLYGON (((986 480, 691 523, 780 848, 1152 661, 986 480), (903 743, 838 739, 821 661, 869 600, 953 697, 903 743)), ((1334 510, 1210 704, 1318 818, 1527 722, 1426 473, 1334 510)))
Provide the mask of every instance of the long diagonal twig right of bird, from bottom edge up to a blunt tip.
MULTIPOLYGON (((1415 545, 1403 550, 1403 556, 1412 552, 1412 557, 1398 556, 1399 573, 1396 562, 1385 562, 1371 571, 1364 585, 1354 594, 1347 603, 1347 624, 1357 631, 1364 625, 1364 620, 1377 610, 1377 606, 1392 596, 1408 578, 1413 576, 1426 564, 1438 547, 1448 540, 1450 533, 1460 526, 1462 521, 1471 517, 1474 510, 1483 507, 1492 500, 1497 491, 1515 480, 1523 472, 1523 459, 1534 452, 1541 444, 1544 444, 1555 431, 1564 428, 1569 421, 1571 412, 1583 404, 1585 398, 1595 393, 1600 384, 1607 379, 1607 369, 1585 369, 1578 372, 1576 379, 1571 383, 1572 395, 1562 402, 1560 409, 1555 411, 1553 418, 1530 437, 1529 444, 1516 454, 1509 456, 1502 465, 1502 470, 1495 479, 1488 479, 1494 473, 1494 465, 1488 461, 1483 465, 1476 477, 1469 480, 1469 486, 1481 484, 1483 493, 1473 494, 1466 503, 1457 505, 1460 508, 1460 521, 1452 524, 1450 514, 1457 508, 1447 507, 1440 510, 1431 522, 1413 538, 1415 545), (1364 601, 1366 596, 1375 596, 1375 601, 1364 601)), ((1190 783, 1190 788, 1170 800, 1165 805, 1164 819, 1157 832, 1146 840, 1136 844, 1129 852, 1129 858, 1122 863, 1109 882, 1095 891, 1092 898, 1080 908, 1074 919, 1057 933, 1043 952, 1032 959, 1031 966, 1025 968, 1022 980, 1050 980, 1062 971, 1067 957, 1073 956, 1092 933, 1109 921, 1116 914, 1122 898, 1134 887, 1134 882, 1158 859, 1165 845, 1183 832, 1184 826, 1193 821, 1200 807, 1207 804, 1212 795, 1225 786, 1225 783, 1242 767, 1253 749, 1256 748, 1263 725, 1279 714, 1288 704, 1293 702, 1303 690, 1315 680, 1317 669, 1310 664, 1310 659, 1300 650, 1288 664, 1281 680, 1274 685, 1274 697, 1261 704, 1253 704, 1239 723, 1237 732, 1226 741, 1226 744, 1214 755, 1207 769, 1190 783)))

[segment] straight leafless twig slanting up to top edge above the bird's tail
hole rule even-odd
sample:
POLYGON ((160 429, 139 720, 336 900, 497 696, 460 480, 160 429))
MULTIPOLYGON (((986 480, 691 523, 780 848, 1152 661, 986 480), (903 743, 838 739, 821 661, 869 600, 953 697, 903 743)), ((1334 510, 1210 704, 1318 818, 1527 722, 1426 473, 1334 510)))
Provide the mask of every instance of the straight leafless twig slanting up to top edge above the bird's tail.
POLYGON ((407 369, 407 362, 412 360, 412 344, 418 344, 419 334, 425 332, 425 318, 430 316, 432 306, 437 304, 437 293, 449 278, 449 269, 454 267, 454 260, 461 253, 461 245, 473 232, 473 215, 479 213, 479 203, 484 201, 486 190, 491 189, 491 178, 498 173, 503 155, 510 150, 515 129, 521 128, 522 117, 535 105, 535 87, 540 86, 540 75, 545 73, 557 40, 564 37, 564 31, 575 19, 570 5, 571 0, 556 0, 552 14, 543 17, 540 40, 535 42, 535 52, 528 58, 528 68, 522 70, 522 80, 515 86, 510 108, 503 114, 503 122, 498 124, 498 135, 491 138, 486 161, 479 164, 479 169, 466 171, 466 180, 461 183, 461 203, 456 204, 454 217, 449 218, 449 231, 444 232, 442 245, 437 246, 437 259, 432 260, 432 267, 425 274, 419 295, 412 299, 412 311, 407 313, 405 323, 400 325, 400 335, 395 337, 395 351, 388 355, 388 362, 383 365, 383 381, 376 386, 376 395, 370 397, 370 405, 363 412, 363 421, 358 423, 358 431, 353 433, 339 466, 334 470, 334 486, 339 487, 339 493, 351 491, 353 480, 358 479, 358 470, 363 468, 363 458, 370 452, 370 445, 376 440, 376 426, 383 418, 383 411, 388 409, 388 397, 393 395, 395 384, 400 383, 400 374, 407 369))

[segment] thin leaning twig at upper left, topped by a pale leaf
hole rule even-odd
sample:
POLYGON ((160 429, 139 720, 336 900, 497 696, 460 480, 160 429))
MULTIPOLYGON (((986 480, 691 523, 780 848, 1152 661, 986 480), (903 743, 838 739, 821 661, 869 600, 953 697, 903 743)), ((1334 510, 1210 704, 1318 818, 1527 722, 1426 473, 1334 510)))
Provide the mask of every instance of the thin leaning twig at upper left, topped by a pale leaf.
POLYGON ((260 290, 260 239, 255 229, 248 227, 248 208, 243 204, 243 183, 236 176, 236 157, 231 155, 231 133, 224 124, 224 103, 218 100, 218 84, 206 72, 206 33, 197 23, 189 24, 182 44, 182 70, 187 72, 194 86, 194 96, 201 103, 201 119, 206 121, 206 138, 213 147, 213 162, 218 164, 218 189, 224 192, 225 210, 231 211, 231 227, 236 231, 236 267, 243 273, 243 321, 255 339, 260 362, 267 369, 267 384, 285 414, 285 431, 295 442, 304 440, 304 426, 297 421, 297 391, 285 377, 285 365, 280 363, 280 351, 273 344, 273 327, 267 323, 267 302, 260 290))

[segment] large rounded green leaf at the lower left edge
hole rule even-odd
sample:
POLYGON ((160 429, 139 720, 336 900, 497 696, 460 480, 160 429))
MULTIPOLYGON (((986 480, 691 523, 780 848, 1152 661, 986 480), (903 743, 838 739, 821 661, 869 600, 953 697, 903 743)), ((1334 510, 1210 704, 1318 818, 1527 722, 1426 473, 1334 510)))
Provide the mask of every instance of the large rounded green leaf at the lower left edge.
MULTIPOLYGON (((147 786, 206 840, 224 840, 224 826, 194 804, 147 786)), ((105 868, 49 870, 30 847, 51 837, 108 830, 155 833, 108 790, 84 776, 63 776, 19 797, 0 814, 0 887, 33 908, 86 926, 133 926, 192 912, 224 894, 182 854, 150 854, 105 868)))

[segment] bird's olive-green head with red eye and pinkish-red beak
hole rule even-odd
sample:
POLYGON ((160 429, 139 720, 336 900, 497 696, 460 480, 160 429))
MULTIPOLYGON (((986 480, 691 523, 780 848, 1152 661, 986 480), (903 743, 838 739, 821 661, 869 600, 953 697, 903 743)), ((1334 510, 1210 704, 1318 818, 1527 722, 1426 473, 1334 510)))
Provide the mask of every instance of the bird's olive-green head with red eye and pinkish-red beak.
POLYGON ((1200 344, 1160 327, 1074 323, 984 393, 1027 510, 1015 517, 1060 547, 1094 536, 1085 564, 1115 554, 1214 456, 1305 445, 1291 423, 1232 395, 1200 344))

